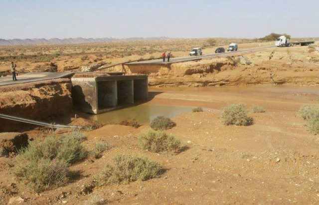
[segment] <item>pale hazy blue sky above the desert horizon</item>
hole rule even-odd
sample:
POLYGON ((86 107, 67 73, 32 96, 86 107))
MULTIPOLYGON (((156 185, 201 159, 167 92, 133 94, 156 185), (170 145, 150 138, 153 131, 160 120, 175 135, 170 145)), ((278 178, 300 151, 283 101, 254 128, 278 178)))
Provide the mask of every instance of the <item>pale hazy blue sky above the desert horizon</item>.
POLYGON ((0 0, 0 38, 319 36, 319 0, 0 0))

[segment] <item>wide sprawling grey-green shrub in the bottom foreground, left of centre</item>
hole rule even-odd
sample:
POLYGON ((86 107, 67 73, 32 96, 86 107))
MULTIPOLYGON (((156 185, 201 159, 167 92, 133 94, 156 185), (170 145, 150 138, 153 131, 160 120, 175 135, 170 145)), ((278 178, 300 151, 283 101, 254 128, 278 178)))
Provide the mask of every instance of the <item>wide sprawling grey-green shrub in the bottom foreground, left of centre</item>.
POLYGON ((163 173, 162 167, 147 158, 118 155, 114 166, 106 165, 104 170, 94 177, 98 186, 113 183, 130 183, 157 178, 163 173))

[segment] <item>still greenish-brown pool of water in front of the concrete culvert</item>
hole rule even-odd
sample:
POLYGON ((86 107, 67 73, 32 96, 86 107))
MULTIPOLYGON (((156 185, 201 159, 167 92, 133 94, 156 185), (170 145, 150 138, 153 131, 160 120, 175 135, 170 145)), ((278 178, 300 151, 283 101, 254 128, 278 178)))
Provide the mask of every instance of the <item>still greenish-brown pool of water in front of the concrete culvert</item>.
POLYGON ((92 115, 91 119, 101 123, 119 123, 123 120, 136 119, 139 123, 150 123, 157 116, 174 117, 181 113, 191 112, 194 107, 163 106, 142 104, 120 110, 114 110, 99 115, 92 115))

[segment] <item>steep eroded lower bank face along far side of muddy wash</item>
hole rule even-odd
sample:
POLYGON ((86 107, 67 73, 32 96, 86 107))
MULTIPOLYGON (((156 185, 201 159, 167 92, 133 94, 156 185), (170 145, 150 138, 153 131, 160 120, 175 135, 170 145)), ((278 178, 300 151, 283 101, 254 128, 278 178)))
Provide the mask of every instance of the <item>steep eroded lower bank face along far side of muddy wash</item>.
POLYGON ((150 86, 234 86, 249 84, 319 84, 319 67, 305 63, 280 61, 261 65, 234 65, 227 59, 220 62, 173 64, 150 74, 150 86))

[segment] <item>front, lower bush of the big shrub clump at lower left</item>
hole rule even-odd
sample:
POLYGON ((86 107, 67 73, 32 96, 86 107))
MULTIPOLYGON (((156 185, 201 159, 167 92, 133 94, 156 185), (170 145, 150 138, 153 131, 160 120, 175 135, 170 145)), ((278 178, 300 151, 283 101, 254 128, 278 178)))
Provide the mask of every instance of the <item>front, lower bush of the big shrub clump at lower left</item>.
POLYGON ((58 187, 68 181, 68 164, 60 160, 27 160, 18 156, 14 174, 23 179, 35 192, 58 187))

